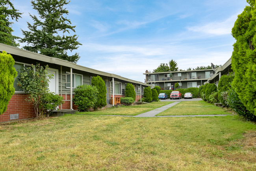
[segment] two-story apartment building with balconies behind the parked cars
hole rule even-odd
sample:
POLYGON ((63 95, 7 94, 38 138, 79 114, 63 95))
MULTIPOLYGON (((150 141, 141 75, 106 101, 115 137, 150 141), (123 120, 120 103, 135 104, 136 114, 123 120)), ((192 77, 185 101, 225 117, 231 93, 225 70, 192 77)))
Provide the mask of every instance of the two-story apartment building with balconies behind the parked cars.
POLYGON ((176 89, 174 85, 178 82, 178 88, 199 87, 214 75, 213 69, 200 69, 191 71, 172 71, 161 73, 150 73, 148 70, 143 73, 146 76, 145 82, 154 86, 160 86, 162 90, 176 89), (170 76, 172 73, 172 76, 170 76))

